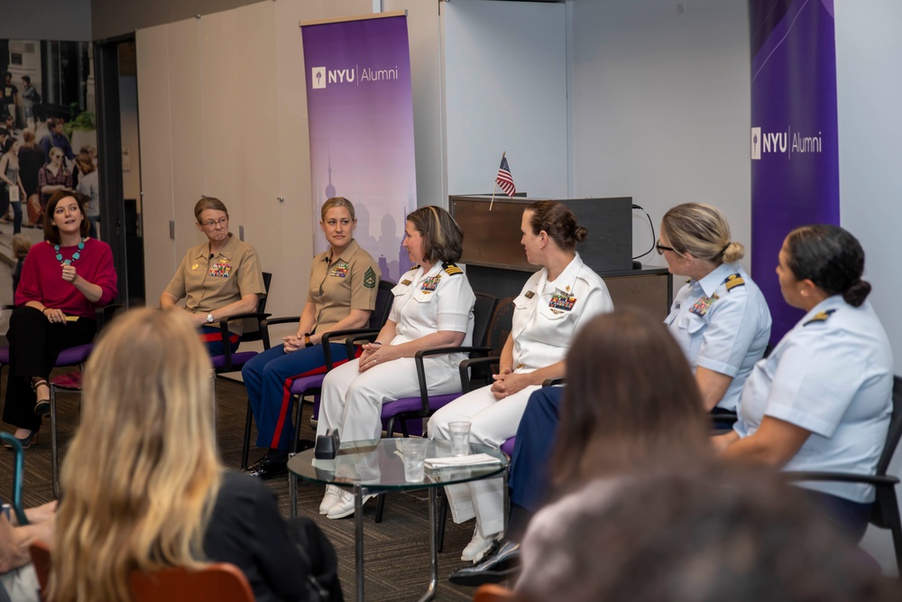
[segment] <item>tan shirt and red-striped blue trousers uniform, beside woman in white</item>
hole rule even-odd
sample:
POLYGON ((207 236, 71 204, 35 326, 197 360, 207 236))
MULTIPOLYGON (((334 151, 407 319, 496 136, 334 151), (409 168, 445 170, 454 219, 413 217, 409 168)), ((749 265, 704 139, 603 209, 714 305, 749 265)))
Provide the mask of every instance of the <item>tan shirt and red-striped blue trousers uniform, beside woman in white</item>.
MULTIPOLYGON (((381 277, 379 265, 356 240, 331 257, 326 251, 314 257, 310 270, 307 302, 316 308, 312 332, 328 332, 351 310, 372 311, 381 277)), ((311 334, 312 334, 311 332, 311 334)), ((247 386, 253 418, 257 422, 257 447, 287 450, 294 437, 291 421, 291 384, 302 376, 324 371, 322 345, 285 353, 284 345, 272 347, 244 365, 241 375, 247 386)), ((345 345, 329 344, 335 362, 347 359, 345 345)))

